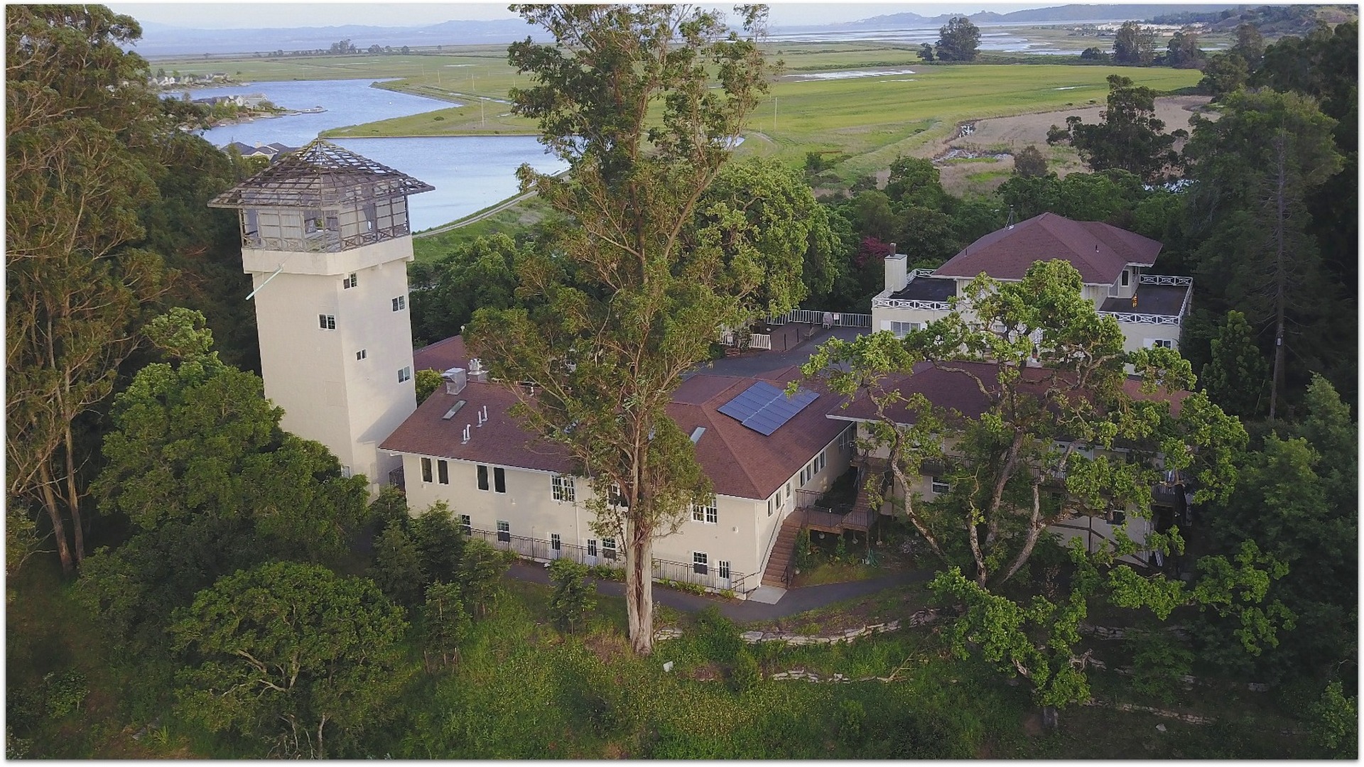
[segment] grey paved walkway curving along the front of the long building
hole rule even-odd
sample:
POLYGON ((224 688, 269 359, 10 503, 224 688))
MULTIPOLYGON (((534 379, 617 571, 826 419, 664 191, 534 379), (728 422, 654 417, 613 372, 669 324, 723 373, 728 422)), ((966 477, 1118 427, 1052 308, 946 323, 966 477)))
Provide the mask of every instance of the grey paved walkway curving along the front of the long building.
MULTIPOLYGON (((518 580, 529 580, 544 584, 550 583, 550 573, 546 570, 544 565, 527 565, 517 562, 512 565, 507 575, 518 580)), ((776 605, 762 605, 760 602, 742 599, 724 599, 722 596, 698 596, 696 594, 674 591, 655 584, 653 602, 656 605, 667 605, 668 607, 683 613, 697 613, 713 605, 720 609, 722 616, 732 621, 771 621, 775 618, 795 616, 797 613, 805 613, 806 610, 814 610, 816 607, 824 607, 825 605, 832 605, 835 602, 876 594, 877 591, 891 588, 892 585, 925 581, 932 579, 933 575, 933 570, 911 570, 873 580, 854 580, 850 583, 828 583, 824 585, 790 588, 776 605)), ((597 584, 597 591, 600 594, 625 596, 623 583, 614 580, 593 580, 597 584)))

